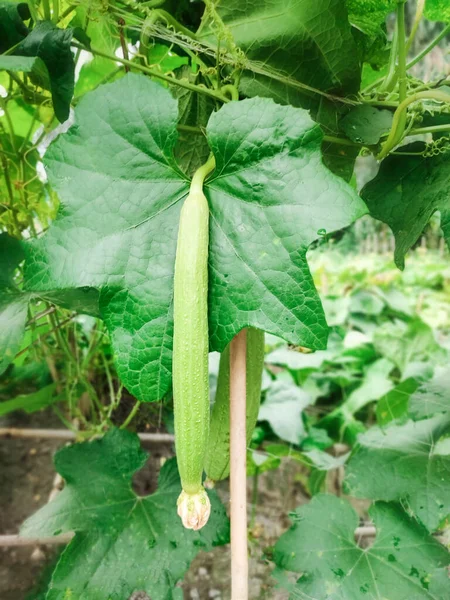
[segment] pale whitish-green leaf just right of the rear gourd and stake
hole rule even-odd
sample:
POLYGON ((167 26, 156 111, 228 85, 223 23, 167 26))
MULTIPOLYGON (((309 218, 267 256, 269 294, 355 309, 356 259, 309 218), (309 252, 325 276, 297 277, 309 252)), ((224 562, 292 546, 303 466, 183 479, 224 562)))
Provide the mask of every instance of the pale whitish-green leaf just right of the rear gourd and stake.
POLYGON ((302 413, 309 404, 309 394, 298 386, 274 381, 259 409, 258 421, 267 421, 280 439, 299 445, 306 435, 302 413))

